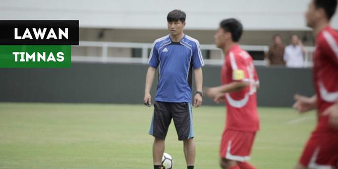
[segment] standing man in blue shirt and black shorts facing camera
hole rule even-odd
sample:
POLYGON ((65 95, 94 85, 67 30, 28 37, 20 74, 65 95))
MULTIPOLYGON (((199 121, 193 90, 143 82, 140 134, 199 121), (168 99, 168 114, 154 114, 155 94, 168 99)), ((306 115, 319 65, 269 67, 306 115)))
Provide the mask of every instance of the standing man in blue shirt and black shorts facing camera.
POLYGON ((164 140, 171 120, 174 120, 179 140, 183 140, 187 168, 194 168, 195 142, 192 118, 192 72, 195 74, 194 106, 202 104, 202 66, 199 42, 183 33, 186 14, 173 10, 167 15, 169 35, 156 39, 152 45, 146 75, 144 103, 151 104, 150 89, 155 71, 159 78, 154 102, 154 114, 149 134, 154 136, 154 169, 161 168, 164 140))

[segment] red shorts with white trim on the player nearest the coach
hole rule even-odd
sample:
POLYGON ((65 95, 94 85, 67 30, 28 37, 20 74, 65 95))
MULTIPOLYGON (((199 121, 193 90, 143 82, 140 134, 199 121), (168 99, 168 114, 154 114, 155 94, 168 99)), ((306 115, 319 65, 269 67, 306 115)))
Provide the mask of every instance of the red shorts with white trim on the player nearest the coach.
POLYGON ((256 132, 224 130, 220 142, 220 157, 241 162, 250 160, 255 135, 256 132))

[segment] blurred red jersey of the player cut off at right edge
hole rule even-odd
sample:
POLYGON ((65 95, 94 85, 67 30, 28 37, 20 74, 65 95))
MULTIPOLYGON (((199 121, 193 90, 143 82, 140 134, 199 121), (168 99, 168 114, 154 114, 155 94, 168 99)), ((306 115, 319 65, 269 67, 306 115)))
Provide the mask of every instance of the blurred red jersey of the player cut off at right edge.
POLYGON ((326 27, 318 33, 313 63, 318 108, 316 131, 329 131, 332 129, 328 125, 328 116, 321 114, 338 101, 338 33, 331 27, 326 27))

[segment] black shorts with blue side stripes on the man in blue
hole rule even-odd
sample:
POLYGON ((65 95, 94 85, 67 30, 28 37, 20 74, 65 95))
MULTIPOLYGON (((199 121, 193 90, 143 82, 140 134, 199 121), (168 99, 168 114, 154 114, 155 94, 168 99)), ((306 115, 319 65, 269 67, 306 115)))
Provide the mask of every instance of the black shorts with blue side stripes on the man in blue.
POLYGON ((172 103, 155 101, 154 114, 149 134, 165 140, 170 123, 174 120, 179 140, 194 138, 191 103, 172 103))

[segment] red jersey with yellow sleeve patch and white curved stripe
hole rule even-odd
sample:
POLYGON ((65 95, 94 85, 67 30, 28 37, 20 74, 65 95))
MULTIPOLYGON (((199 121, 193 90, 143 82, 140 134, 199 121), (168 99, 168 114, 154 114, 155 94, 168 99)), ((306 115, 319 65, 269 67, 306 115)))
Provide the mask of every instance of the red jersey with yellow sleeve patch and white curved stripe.
POLYGON ((256 132, 259 130, 256 86, 259 84, 253 60, 248 52, 234 45, 227 53, 221 70, 222 85, 235 81, 250 82, 250 86, 226 93, 226 129, 256 132))

